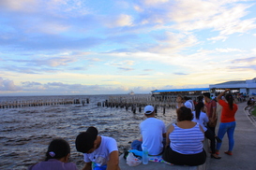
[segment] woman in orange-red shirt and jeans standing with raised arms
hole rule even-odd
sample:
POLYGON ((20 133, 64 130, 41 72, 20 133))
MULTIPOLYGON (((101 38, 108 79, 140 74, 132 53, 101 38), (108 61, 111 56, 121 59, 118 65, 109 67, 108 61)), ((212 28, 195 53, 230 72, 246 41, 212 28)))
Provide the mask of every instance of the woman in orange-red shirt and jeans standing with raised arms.
MULTIPOLYGON (((217 101, 220 106, 222 106, 220 123, 218 127, 218 137, 222 140, 223 136, 227 133, 229 137, 229 150, 224 153, 232 155, 234 140, 233 133, 235 129, 235 119, 234 115, 238 109, 236 104, 233 104, 233 95, 228 93, 225 95, 225 92, 229 92, 229 89, 226 89, 224 92, 218 94, 217 101), (221 97, 225 95, 226 101, 222 100, 221 97)), ((217 143, 216 153, 221 147, 221 143, 217 143)))

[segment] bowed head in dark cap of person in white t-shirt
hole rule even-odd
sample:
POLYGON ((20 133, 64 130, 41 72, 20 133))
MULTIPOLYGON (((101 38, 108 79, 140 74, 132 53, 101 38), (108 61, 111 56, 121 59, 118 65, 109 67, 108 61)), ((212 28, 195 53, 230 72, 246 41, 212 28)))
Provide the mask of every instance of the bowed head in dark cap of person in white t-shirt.
POLYGON ((91 126, 86 132, 81 133, 76 137, 76 149, 82 153, 92 153, 97 149, 98 130, 91 126))

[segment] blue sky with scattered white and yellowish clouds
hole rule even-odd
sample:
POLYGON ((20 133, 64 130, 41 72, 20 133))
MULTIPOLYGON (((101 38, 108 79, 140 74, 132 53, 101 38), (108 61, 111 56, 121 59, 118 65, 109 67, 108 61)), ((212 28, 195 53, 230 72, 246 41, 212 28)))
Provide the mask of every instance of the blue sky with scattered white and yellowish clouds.
POLYGON ((256 78, 256 1, 1 0, 0 96, 256 78))

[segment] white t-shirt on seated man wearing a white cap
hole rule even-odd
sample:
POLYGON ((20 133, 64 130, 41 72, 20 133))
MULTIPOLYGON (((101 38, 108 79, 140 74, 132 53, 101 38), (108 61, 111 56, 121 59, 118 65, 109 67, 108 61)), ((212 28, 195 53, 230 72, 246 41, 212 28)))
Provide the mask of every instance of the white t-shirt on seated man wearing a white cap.
POLYGON ((163 134, 166 127, 162 120, 147 118, 140 124, 141 135, 143 135, 143 146, 148 149, 149 155, 158 155, 163 149, 163 134))

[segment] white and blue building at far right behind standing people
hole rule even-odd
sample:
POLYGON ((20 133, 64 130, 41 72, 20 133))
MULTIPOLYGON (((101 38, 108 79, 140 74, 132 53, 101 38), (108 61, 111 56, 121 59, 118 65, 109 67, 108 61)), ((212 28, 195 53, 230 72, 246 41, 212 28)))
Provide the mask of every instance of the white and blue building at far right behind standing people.
POLYGON ((232 91, 251 95, 256 93, 256 78, 212 84, 209 86, 209 89, 213 93, 224 89, 231 89, 232 91))

